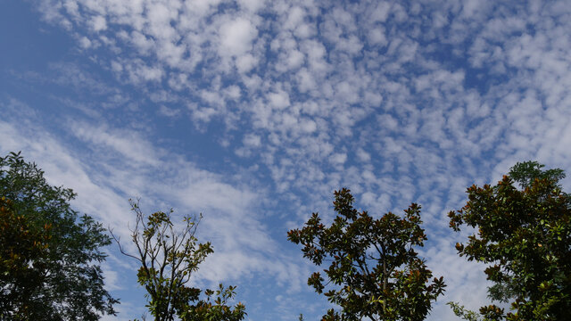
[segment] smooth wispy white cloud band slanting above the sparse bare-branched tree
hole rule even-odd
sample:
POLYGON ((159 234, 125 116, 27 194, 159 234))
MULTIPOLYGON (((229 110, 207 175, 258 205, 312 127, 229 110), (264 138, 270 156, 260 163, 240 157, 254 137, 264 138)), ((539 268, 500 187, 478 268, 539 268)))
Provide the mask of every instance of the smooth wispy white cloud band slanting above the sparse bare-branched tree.
MULTIPOLYGON (((256 213, 262 191, 254 193, 244 183, 199 169, 180 155, 157 149, 133 130, 71 122, 69 134, 76 140, 64 142, 33 125, 39 119, 29 106, 12 101, 3 104, 3 109, 12 116, 0 121, 4 138, 0 152, 21 150, 27 160, 37 161, 50 184, 78 193, 74 207, 111 226, 122 240, 130 239, 128 226, 133 226, 129 197, 141 197, 141 206, 148 212, 173 207, 176 218, 203 212, 199 239, 210 241, 215 253, 203 263, 194 282, 212 286, 263 273, 275 276, 286 288, 301 287, 300 268, 279 251, 268 227, 261 223, 264 216, 256 213), (72 147, 78 143, 85 144, 81 152, 72 147)), ((124 245, 132 248, 129 243, 124 245)), ((112 250, 112 257, 103 267, 112 283, 110 290, 133 286, 118 274, 134 274, 134 270, 125 271, 125 266, 118 265, 117 251, 112 250)))

